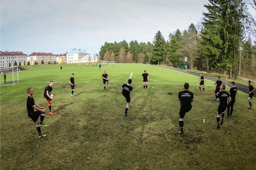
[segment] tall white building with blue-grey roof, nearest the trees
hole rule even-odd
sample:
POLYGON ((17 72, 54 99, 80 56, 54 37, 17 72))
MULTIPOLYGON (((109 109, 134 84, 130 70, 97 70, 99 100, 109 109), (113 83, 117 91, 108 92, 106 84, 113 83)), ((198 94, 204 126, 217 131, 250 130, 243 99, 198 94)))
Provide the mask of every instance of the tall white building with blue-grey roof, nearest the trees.
POLYGON ((72 49, 72 51, 67 53, 67 64, 78 63, 79 61, 82 61, 82 57, 85 57, 86 55, 89 56, 89 54, 85 50, 72 49))

